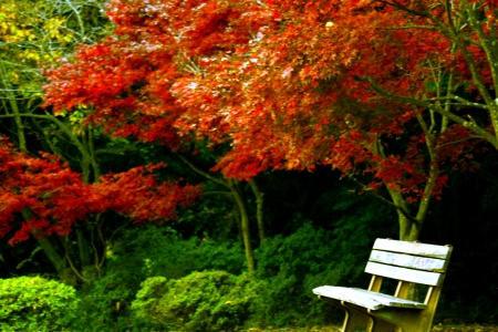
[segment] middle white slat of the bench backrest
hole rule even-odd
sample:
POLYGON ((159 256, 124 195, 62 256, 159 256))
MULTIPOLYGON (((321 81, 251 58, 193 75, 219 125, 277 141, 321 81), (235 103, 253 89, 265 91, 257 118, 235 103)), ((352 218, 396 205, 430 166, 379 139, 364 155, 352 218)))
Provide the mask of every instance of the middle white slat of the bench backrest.
POLYGON ((398 266, 432 272, 444 272, 446 270, 446 260, 444 259, 426 258, 388 251, 372 250, 369 260, 391 266, 398 266))

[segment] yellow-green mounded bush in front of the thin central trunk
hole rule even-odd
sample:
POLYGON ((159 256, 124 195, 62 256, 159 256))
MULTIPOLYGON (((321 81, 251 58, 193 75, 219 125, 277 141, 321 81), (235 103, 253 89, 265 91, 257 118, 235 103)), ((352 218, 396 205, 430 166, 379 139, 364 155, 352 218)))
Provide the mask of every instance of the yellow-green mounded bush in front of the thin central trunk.
POLYGON ((147 279, 132 309, 143 319, 181 331, 235 331, 256 312, 264 286, 247 274, 194 272, 178 280, 147 279))

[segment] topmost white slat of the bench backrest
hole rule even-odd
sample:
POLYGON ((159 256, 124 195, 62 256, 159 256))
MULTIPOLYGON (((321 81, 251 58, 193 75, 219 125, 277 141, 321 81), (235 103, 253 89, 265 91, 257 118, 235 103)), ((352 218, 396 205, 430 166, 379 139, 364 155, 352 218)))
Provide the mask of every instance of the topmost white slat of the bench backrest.
POLYGON ((452 247, 376 239, 373 249, 447 259, 452 247))

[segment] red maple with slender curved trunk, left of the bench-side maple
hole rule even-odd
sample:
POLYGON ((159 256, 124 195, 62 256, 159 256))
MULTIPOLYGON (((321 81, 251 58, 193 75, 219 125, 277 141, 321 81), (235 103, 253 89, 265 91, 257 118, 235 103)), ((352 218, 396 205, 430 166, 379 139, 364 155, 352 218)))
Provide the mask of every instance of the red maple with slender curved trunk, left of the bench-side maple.
MULTIPOLYGON (((117 38, 79 48, 74 61, 62 62, 60 68, 48 71, 51 83, 45 91, 46 105, 53 106, 54 114, 89 107, 92 110, 89 124, 103 126, 115 136, 133 136, 142 142, 166 145, 178 152, 191 169, 225 187, 239 211, 248 268, 252 271, 249 215, 241 184, 238 179, 209 174, 183 156, 185 152, 193 152, 187 146, 196 137, 178 132, 176 123, 184 107, 172 94, 177 80, 198 70, 191 56, 218 53, 219 48, 225 49, 224 44, 229 48, 231 43, 249 40, 250 34, 243 27, 228 34, 225 32, 229 21, 243 13, 243 7, 236 2, 203 6, 201 1, 177 1, 168 6, 166 2, 115 1, 108 8, 108 14, 116 24, 117 38), (196 24, 203 32, 196 30, 189 32, 187 39, 181 39, 181 31, 163 22, 173 18, 196 24)), ((263 194, 253 181, 250 189, 257 197, 257 219, 262 240, 263 194)))

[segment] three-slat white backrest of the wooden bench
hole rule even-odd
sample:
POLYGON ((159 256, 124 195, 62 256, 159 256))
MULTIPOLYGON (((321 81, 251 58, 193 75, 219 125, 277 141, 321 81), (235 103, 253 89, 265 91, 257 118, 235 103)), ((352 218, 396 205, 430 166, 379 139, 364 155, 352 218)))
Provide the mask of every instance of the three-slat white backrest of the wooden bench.
POLYGON ((365 272, 439 287, 447 270, 450 246, 377 239, 365 272))

